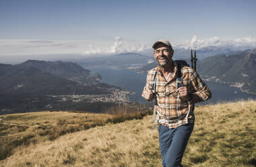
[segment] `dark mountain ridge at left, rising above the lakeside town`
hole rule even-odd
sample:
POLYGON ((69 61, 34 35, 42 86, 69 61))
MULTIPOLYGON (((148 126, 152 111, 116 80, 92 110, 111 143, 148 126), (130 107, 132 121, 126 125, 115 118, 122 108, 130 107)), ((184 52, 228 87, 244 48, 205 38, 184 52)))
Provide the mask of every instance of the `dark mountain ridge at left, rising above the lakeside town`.
MULTIPOLYGON (((0 64, 1 92, 29 94, 107 94, 100 75, 71 62, 28 60, 0 64)), ((106 85, 108 87, 108 85, 106 85)))

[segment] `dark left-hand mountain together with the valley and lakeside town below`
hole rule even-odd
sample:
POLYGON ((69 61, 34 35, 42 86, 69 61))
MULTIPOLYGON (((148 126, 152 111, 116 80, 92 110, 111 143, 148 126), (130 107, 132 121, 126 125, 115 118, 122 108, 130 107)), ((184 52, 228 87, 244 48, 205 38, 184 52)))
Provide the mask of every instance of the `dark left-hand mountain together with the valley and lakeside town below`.
POLYGON ((28 60, 18 65, 0 64, 0 80, 0 114, 67 108, 101 112, 104 106, 125 100, 127 94, 117 86, 100 82, 100 75, 90 75, 88 69, 72 62, 28 60))

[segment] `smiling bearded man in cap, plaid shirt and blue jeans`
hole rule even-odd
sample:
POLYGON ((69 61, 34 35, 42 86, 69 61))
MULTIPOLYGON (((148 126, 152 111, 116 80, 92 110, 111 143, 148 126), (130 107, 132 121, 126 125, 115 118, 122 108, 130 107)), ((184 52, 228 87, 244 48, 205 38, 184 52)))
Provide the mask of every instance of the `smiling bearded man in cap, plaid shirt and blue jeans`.
POLYGON ((168 40, 158 40, 152 48, 158 67, 148 71, 142 96, 148 101, 156 98, 162 166, 182 166, 195 121, 193 104, 211 98, 212 94, 199 75, 185 65, 180 69, 183 85, 177 84, 179 65, 172 61, 174 51, 168 40))

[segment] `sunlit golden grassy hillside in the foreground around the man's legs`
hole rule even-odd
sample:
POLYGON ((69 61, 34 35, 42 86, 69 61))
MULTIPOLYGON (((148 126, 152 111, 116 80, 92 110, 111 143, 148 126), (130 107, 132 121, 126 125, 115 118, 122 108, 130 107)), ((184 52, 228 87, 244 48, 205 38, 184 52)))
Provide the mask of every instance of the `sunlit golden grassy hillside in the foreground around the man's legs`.
MULTIPOLYGON (((33 114, 39 113, 30 116, 33 118, 33 114)), ((72 116, 61 118, 64 113, 60 112, 47 114, 50 120, 53 116, 65 120, 60 127, 69 126, 67 122, 72 120, 72 116)), ((81 113, 72 114, 82 117, 81 113)), ((196 123, 183 166, 255 166, 255 114, 256 101, 253 100, 195 108, 196 123)), ((34 117, 38 119, 38 116, 34 117)), ((19 118, 16 115, 9 124, 27 123, 19 118)), ((61 135, 53 141, 44 139, 23 144, 15 147, 11 156, 1 160, 0 166, 161 166, 158 131, 151 129, 151 119, 148 115, 142 120, 117 124, 105 122, 104 126, 61 135)), ((3 118, 0 123, 5 120, 3 118)), ((31 125, 40 126, 48 121, 29 120, 31 125)), ((30 128, 20 133, 27 133, 32 130, 30 128)), ((17 134, 17 131, 13 130, 13 133, 17 134)))

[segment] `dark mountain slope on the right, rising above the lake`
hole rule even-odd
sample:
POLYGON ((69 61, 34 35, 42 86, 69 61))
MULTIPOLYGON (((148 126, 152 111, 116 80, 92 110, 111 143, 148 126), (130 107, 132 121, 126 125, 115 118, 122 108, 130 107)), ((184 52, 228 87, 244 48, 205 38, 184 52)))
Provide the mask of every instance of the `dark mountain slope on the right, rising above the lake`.
POLYGON ((256 48, 199 61, 197 72, 209 81, 230 84, 256 94, 256 48))

